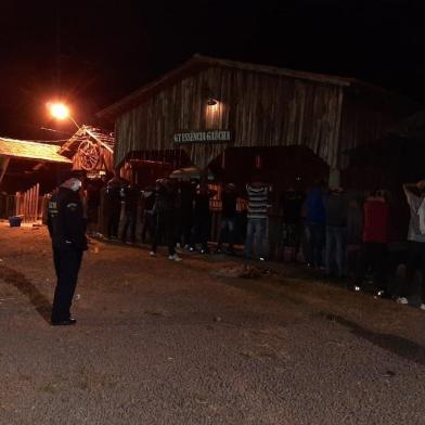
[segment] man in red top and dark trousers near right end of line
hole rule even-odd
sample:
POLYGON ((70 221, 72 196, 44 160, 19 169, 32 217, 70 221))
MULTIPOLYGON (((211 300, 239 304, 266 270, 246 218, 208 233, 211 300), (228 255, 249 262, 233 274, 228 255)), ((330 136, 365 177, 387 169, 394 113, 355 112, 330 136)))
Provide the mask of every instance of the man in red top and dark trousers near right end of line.
POLYGON ((376 294, 390 298, 387 289, 387 242, 389 208, 382 191, 369 196, 363 206, 363 243, 356 273, 355 289, 360 291, 364 274, 371 267, 376 294))

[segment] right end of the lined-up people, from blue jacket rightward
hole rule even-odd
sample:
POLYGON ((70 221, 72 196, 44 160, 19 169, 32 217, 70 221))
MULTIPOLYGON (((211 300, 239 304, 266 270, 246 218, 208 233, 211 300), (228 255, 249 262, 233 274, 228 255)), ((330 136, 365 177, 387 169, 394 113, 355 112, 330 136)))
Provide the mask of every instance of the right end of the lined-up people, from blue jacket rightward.
MULTIPOLYGON (((421 309, 425 310, 425 182, 404 184, 410 207, 405 275, 399 288, 390 287, 390 208, 385 191, 372 191, 364 199, 349 198, 342 188, 324 191, 318 184, 305 202, 305 257, 308 267, 327 276, 347 278, 348 287, 362 291, 368 275, 382 298, 409 304, 421 274, 421 309)), ((397 265, 396 265, 397 266, 397 265)))

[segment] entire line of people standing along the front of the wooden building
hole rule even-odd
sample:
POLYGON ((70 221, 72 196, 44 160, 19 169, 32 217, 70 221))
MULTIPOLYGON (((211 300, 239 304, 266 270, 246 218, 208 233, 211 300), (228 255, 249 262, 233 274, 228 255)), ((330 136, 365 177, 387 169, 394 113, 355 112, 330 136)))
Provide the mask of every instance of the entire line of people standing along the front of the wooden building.
MULTIPOLYGON (((300 259, 309 268, 322 270, 326 276, 347 279, 348 287, 361 291, 371 276, 376 295, 408 304, 415 272, 425 273, 425 182, 405 184, 404 193, 411 210, 405 284, 399 294, 389 288, 388 242, 390 208, 385 191, 372 191, 365 198, 348 196, 342 188, 327 190, 318 182, 307 195, 288 188, 281 198, 282 226, 279 246, 284 260, 300 259), (423 212, 424 211, 424 212, 423 212), (299 258, 301 257, 301 258, 299 258), (399 295, 399 296, 398 296, 399 295)), ((168 246, 168 258, 180 261, 177 247, 209 254, 210 199, 216 192, 207 181, 157 180, 154 186, 140 191, 131 183, 112 179, 106 188, 110 220, 107 236, 118 237, 121 202, 125 215, 120 240, 136 242, 136 223, 140 194, 143 199, 142 242, 151 242, 155 256, 159 242, 168 246)), ((241 242, 248 259, 266 259, 269 250, 268 227, 270 188, 254 176, 240 193, 228 183, 221 193, 221 222, 217 253, 235 254, 237 235, 237 198, 246 199, 246 222, 241 242), (244 237, 245 236, 245 237, 244 237), (224 249, 224 240, 228 242, 224 249)), ((424 282, 424 280, 422 280, 424 282)), ((425 286, 422 305, 425 309, 425 286)))

